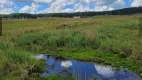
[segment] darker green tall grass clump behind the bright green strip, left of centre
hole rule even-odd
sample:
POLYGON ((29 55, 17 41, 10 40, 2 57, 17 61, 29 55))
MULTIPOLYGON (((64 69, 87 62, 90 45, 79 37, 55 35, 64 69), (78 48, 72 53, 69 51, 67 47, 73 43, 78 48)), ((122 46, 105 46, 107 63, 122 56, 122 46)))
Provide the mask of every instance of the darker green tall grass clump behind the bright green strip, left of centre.
POLYGON ((15 42, 18 46, 26 47, 28 49, 87 49, 96 46, 94 39, 90 39, 83 32, 72 30, 41 34, 26 34, 19 37, 15 42))

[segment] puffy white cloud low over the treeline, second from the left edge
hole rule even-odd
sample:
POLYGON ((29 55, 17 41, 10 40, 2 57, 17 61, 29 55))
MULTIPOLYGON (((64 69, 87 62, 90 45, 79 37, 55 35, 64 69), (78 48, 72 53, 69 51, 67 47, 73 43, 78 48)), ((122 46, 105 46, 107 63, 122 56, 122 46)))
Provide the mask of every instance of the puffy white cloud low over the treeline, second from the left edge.
POLYGON ((24 6, 19 10, 19 13, 31 13, 34 14, 37 12, 38 4, 32 3, 31 6, 24 6))

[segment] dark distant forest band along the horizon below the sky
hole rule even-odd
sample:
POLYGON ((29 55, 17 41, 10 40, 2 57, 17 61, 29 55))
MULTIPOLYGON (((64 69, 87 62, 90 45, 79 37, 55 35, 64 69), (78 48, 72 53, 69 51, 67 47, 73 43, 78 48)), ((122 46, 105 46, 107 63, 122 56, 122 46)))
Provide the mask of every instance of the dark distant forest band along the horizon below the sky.
POLYGON ((142 7, 131 7, 112 11, 99 11, 99 12, 76 12, 76 13, 44 13, 44 14, 28 14, 28 13, 13 13, 9 15, 1 15, 3 18, 16 18, 16 19, 36 19, 44 17, 67 17, 72 18, 74 16, 80 17, 92 17, 97 15, 131 15, 136 13, 142 13, 142 7))

